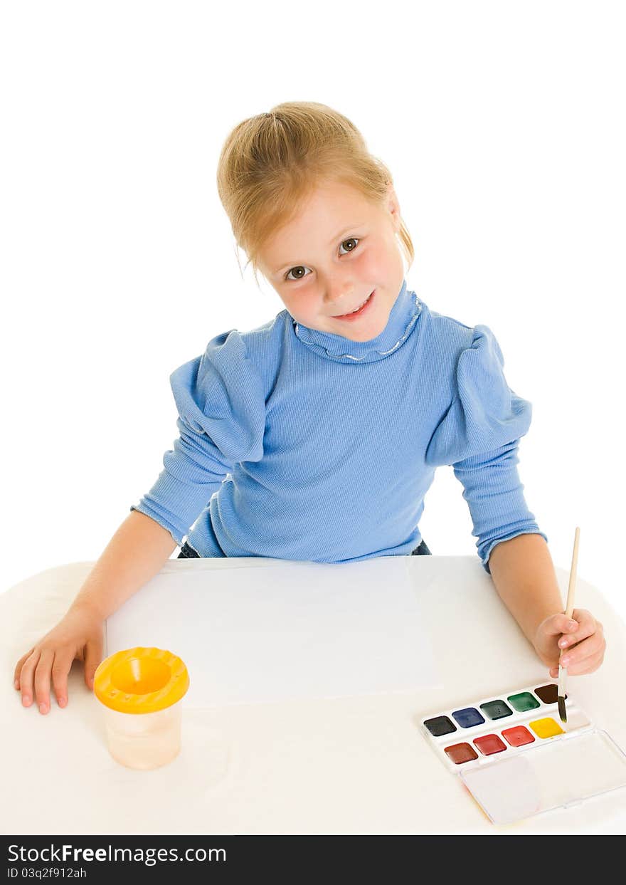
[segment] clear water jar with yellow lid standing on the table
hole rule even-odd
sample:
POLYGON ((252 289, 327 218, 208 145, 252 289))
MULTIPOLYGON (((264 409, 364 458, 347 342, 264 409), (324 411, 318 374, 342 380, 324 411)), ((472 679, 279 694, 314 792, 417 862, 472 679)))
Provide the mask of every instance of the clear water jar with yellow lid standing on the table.
POLYGON ((102 704, 111 756, 128 768, 157 768, 180 750, 182 698, 187 667, 171 651, 117 651, 95 671, 94 694, 102 704))

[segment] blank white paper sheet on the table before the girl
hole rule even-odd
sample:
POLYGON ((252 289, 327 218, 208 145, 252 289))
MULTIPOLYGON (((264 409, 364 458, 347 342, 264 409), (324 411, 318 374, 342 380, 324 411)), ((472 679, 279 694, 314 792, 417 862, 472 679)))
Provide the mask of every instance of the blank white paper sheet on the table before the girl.
POLYGON ((107 621, 107 654, 143 645, 179 655, 185 704, 196 707, 436 682, 406 557, 244 562, 172 560, 107 621))

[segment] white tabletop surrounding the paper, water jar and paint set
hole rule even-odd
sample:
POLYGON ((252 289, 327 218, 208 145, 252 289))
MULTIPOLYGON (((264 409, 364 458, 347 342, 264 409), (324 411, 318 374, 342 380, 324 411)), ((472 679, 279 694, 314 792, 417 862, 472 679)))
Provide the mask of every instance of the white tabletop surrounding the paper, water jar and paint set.
MULTIPOLYGON (((171 559, 164 568, 231 568, 241 559, 171 559)), ((250 559, 262 568, 277 560, 250 559)), ((494 827, 418 729, 424 714, 548 681, 546 668, 476 557, 409 557, 441 685, 278 704, 183 708, 182 750, 149 772, 119 766, 102 711, 70 673, 70 703, 42 716, 12 687, 18 658, 65 613, 93 563, 35 574, 0 596, 0 749, 5 835, 623 834, 626 791, 494 827)), ((569 573, 557 568, 561 595, 569 573)), ((605 625, 607 656, 569 691, 622 748, 626 628, 578 581, 577 603, 605 625)), ((184 702, 183 702, 184 703, 184 702)), ((572 773, 575 776, 575 773, 572 773)))

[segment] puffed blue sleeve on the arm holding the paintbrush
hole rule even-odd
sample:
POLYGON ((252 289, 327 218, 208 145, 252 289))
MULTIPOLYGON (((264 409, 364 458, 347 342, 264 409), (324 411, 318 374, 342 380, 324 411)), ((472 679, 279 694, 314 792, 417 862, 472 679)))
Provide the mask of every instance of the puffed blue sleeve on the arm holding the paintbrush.
POLYGON ((426 450, 426 463, 450 465, 462 482, 477 537, 477 552, 488 560, 500 541, 539 530, 523 496, 517 464, 520 437, 531 426, 532 405, 508 387, 504 358, 492 330, 474 327, 471 346, 457 364, 454 399, 426 450))

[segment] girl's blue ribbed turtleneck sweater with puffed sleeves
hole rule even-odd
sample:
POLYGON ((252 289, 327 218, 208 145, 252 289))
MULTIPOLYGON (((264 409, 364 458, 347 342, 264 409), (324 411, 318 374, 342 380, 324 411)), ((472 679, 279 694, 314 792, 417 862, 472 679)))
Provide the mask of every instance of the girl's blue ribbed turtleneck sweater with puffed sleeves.
POLYGON ((409 555, 435 470, 462 482, 485 570, 542 535, 517 473, 531 403, 500 346, 402 282, 378 337, 352 342, 285 310, 212 338, 171 375, 179 438, 131 507, 202 557, 347 562, 409 555))

